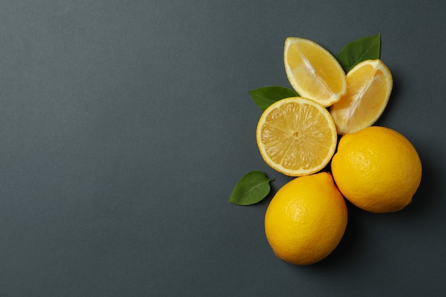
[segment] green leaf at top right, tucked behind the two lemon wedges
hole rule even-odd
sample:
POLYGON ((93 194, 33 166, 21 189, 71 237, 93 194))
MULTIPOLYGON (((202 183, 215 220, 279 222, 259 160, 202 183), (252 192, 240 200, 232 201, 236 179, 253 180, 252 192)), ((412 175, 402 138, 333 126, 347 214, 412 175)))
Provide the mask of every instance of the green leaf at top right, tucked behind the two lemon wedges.
POLYGON ((381 34, 359 38, 344 46, 338 54, 338 61, 346 73, 356 64, 380 58, 381 34))

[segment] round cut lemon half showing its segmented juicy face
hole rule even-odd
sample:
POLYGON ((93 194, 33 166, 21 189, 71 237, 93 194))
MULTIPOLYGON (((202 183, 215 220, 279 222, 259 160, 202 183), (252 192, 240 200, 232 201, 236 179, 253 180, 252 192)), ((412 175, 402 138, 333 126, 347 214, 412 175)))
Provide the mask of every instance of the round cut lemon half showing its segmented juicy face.
POLYGON ((266 164, 291 177, 322 170, 335 152, 337 136, 328 110, 301 97, 271 104, 256 130, 257 145, 266 164))

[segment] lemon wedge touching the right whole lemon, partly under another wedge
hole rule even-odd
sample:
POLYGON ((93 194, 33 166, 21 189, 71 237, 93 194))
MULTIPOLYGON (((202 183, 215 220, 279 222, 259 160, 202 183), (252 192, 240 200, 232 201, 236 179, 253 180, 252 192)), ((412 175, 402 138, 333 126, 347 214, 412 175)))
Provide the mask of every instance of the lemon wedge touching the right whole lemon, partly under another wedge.
POLYGON ((358 132, 383 114, 393 88, 393 78, 383 61, 365 60, 347 73, 347 93, 331 105, 338 133, 358 132))

